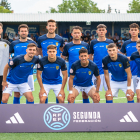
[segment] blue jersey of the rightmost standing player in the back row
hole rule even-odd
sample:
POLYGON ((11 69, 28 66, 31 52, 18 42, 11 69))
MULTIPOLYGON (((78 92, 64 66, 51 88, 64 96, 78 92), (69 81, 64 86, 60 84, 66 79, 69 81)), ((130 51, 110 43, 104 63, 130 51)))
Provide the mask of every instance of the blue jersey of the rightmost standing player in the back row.
MULTIPOLYGON (((126 53, 126 56, 130 57, 133 52, 136 52, 136 41, 131 41, 131 39, 124 42, 121 48, 122 53, 126 53)), ((138 68, 135 61, 130 61, 130 67, 132 75, 137 75, 138 68)))

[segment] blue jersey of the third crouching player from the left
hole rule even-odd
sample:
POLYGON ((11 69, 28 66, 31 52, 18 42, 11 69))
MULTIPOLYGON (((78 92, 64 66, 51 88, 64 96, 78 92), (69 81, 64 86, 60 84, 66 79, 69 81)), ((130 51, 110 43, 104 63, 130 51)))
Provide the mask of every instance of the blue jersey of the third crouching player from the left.
POLYGON ((70 75, 74 75, 73 85, 81 87, 89 87, 93 85, 92 76, 99 76, 97 65, 89 60, 87 67, 81 66, 80 60, 74 62, 70 69, 70 75))

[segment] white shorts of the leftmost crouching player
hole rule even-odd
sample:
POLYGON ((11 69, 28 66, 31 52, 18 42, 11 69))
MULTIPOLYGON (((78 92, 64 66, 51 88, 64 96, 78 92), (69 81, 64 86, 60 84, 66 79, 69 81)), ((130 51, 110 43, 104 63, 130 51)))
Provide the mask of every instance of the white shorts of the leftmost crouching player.
POLYGON ((12 84, 12 83, 8 83, 8 87, 6 87, 3 91, 4 93, 9 93, 10 96, 12 96, 12 91, 17 88, 20 92, 20 95, 22 96, 23 93, 25 92, 32 92, 30 86, 28 85, 28 83, 22 83, 22 84, 12 84))

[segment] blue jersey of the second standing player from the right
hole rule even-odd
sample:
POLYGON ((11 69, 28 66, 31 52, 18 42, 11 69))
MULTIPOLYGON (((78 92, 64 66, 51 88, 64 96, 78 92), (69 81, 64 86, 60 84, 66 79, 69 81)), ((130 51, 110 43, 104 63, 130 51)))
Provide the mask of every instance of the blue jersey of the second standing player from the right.
POLYGON ((112 40, 106 39, 106 41, 98 41, 94 39, 90 44, 90 53, 94 54, 94 63, 97 65, 100 74, 104 74, 102 69, 102 59, 108 55, 107 46, 113 43, 112 40))

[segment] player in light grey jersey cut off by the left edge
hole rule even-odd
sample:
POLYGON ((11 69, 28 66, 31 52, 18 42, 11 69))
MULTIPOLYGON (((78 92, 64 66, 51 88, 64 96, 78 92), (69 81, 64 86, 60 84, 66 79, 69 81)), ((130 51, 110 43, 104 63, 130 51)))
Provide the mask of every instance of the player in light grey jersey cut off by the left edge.
POLYGON ((9 41, 1 38, 2 32, 3 32, 3 24, 0 23, 0 103, 2 99, 3 70, 9 60, 9 45, 10 45, 9 41))

